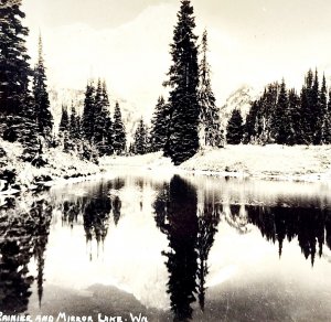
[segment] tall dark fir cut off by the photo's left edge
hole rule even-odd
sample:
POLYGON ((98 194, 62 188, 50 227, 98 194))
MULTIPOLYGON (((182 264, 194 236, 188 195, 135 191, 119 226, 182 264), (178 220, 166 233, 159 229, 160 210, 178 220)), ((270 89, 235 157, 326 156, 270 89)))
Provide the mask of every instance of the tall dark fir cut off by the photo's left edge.
POLYGON ((21 0, 0 1, 0 135, 4 140, 20 141, 24 147, 22 159, 32 161, 40 147, 29 89, 29 30, 21 22, 25 18, 21 6, 21 0))

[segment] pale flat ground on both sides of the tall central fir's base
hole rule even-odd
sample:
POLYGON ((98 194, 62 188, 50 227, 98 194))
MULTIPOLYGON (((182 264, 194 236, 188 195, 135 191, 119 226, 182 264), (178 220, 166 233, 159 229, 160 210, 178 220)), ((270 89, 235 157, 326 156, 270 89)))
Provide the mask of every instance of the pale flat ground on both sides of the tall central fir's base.
POLYGON ((278 180, 331 180, 331 146, 284 147, 226 146, 203 149, 174 167, 161 152, 135 157, 108 157, 100 160, 106 171, 156 171, 161 173, 194 172, 227 176, 254 176, 278 180))

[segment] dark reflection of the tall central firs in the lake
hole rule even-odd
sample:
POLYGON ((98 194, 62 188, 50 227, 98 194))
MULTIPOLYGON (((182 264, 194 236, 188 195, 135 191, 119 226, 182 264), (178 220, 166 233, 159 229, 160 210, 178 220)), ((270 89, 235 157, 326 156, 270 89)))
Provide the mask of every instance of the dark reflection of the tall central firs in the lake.
POLYGON ((196 294, 204 309, 207 257, 217 232, 220 214, 214 204, 205 203, 197 216, 197 196, 193 185, 175 175, 163 185, 154 202, 158 227, 167 235, 168 293, 174 321, 192 319, 196 294))

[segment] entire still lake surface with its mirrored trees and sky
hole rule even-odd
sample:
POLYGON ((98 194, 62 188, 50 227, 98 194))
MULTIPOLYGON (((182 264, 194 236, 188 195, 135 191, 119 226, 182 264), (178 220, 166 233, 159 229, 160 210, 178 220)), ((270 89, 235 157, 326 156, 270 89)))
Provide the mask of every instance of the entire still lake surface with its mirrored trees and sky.
POLYGON ((120 174, 7 202, 0 312, 331 321, 331 186, 120 174))

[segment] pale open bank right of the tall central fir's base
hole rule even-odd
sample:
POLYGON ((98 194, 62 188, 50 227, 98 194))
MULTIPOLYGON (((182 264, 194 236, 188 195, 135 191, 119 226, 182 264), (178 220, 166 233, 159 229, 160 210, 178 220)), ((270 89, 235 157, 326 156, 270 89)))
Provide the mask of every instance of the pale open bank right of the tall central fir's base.
POLYGON ((202 150, 182 170, 280 180, 331 180, 331 146, 226 146, 202 150))

